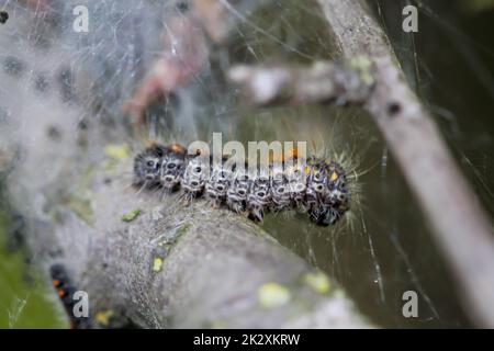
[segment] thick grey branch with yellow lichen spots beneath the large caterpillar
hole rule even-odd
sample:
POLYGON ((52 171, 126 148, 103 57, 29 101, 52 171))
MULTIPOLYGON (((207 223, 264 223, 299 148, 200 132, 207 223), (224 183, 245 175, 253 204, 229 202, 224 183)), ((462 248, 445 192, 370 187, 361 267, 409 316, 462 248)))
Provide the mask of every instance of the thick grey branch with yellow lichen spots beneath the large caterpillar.
POLYGON ((130 163, 93 169, 89 213, 74 206, 76 194, 64 196, 52 207, 56 223, 37 220, 30 241, 88 292, 96 326, 370 327, 335 282, 243 216, 203 201, 184 207, 177 195, 137 195, 117 176, 130 163))

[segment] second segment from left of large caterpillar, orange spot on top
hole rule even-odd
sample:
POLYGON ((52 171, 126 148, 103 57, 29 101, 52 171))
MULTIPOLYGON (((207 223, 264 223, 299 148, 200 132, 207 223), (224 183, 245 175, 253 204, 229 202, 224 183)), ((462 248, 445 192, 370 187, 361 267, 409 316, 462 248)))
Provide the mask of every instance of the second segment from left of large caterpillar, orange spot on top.
POLYGON ((171 145, 169 152, 161 160, 160 182, 168 191, 175 191, 180 186, 186 167, 186 149, 171 145))

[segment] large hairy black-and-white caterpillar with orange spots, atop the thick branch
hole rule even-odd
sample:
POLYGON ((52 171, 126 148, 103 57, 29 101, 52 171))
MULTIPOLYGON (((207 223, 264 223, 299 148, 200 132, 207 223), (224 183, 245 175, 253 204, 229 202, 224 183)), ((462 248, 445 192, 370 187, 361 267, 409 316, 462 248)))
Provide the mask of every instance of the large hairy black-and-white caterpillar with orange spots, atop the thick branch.
POLYGON ((134 159, 134 186, 176 192, 190 202, 205 197, 216 207, 227 207, 261 222, 267 212, 295 210, 307 213, 319 226, 338 222, 349 210, 350 192, 347 174, 338 162, 317 157, 306 160, 296 152, 270 161, 256 172, 245 165, 229 162, 204 152, 189 155, 178 144, 147 147, 134 159))

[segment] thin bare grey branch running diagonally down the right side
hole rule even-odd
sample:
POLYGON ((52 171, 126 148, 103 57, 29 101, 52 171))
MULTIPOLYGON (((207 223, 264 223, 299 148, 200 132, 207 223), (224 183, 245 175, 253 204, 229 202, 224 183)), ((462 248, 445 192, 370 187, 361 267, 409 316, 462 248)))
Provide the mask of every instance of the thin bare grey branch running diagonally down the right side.
POLYGON ((409 89, 381 26, 362 0, 317 0, 344 57, 375 64, 366 104, 434 228, 462 293, 467 313, 494 327, 492 225, 461 176, 433 117, 409 89))

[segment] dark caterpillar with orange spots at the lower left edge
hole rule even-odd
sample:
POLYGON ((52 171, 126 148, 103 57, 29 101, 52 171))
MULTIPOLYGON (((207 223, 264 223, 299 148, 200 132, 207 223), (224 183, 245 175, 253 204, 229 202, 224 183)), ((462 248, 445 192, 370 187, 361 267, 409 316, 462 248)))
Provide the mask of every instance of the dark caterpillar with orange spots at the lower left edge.
POLYGON ((91 320, 89 317, 76 317, 74 315, 75 301, 72 298, 77 288, 70 283, 67 270, 63 264, 53 264, 49 268, 49 274, 52 276, 52 284, 57 291, 65 312, 67 313, 70 327, 72 329, 88 329, 91 328, 91 320))

